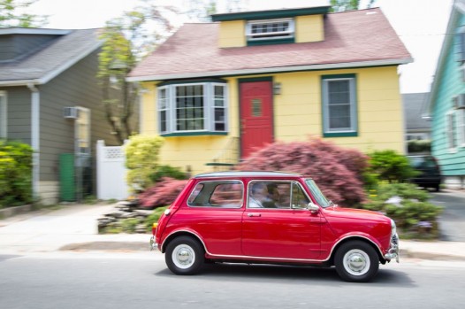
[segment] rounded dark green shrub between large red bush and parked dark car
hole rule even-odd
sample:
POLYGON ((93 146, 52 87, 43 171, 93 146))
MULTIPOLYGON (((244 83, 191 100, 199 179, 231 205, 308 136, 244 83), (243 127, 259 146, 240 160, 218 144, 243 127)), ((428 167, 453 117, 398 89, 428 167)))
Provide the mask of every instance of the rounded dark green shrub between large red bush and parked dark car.
POLYGON ((396 151, 373 151, 369 154, 369 174, 376 174, 378 180, 405 182, 415 176, 415 169, 408 158, 396 151))

